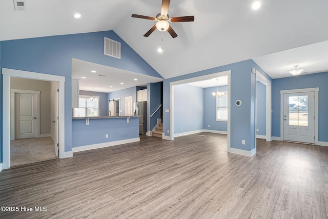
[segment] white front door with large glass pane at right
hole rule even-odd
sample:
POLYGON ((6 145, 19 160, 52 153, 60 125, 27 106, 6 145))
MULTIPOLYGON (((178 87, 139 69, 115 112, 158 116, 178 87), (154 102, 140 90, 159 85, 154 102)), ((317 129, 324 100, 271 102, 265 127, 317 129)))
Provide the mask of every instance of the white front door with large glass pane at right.
POLYGON ((283 140, 314 144, 314 92, 283 95, 283 140))

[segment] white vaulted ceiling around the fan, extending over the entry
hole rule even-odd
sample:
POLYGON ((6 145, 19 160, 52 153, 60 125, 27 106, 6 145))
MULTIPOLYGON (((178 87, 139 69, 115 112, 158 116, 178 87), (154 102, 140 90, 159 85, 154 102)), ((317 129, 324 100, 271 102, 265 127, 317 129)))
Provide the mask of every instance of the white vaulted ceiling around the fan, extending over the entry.
POLYGON ((319 42, 326 45, 326 0, 261 0, 258 10, 252 9, 253 0, 172 0, 171 17, 194 15, 195 22, 172 23, 178 37, 173 39, 164 32, 162 53, 157 52, 162 38, 159 31, 143 36, 155 22, 131 17, 133 13, 156 16, 160 0, 26 3, 27 11, 17 12, 13 1, 0 1, 0 41, 114 30, 164 78, 251 58, 273 78, 287 76, 295 64, 309 73, 328 71, 327 49, 313 47, 311 53, 311 46, 294 50, 319 42), (73 18, 76 12, 82 15, 79 19, 73 18), (282 52, 285 50, 290 51, 282 52), (300 53, 304 56, 297 59, 300 53), (279 58, 280 54, 284 57, 279 58), (312 65, 306 60, 312 60, 312 65))

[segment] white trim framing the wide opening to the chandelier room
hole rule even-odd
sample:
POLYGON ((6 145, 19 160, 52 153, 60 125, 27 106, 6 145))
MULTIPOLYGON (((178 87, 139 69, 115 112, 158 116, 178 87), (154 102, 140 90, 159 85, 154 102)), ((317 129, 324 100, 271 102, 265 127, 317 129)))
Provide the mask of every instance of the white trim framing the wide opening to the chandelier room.
MULTIPOLYGON (((203 81, 213 77, 221 77, 228 75, 228 121, 227 121, 227 144, 228 152, 233 152, 234 148, 230 147, 230 108, 231 108, 231 70, 222 71, 214 74, 202 75, 199 77, 192 77, 180 81, 170 82, 170 140, 174 140, 174 86, 191 82, 203 81)), ((163 136, 164 133, 163 133, 163 136)), ((167 139, 167 138, 166 138, 167 139)))

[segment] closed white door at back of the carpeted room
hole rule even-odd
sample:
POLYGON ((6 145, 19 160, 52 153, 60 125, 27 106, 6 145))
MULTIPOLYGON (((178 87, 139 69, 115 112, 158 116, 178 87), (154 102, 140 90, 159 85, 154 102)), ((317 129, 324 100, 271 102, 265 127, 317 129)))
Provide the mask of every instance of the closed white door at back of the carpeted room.
POLYGON ((37 137, 37 95, 15 94, 15 138, 37 137))

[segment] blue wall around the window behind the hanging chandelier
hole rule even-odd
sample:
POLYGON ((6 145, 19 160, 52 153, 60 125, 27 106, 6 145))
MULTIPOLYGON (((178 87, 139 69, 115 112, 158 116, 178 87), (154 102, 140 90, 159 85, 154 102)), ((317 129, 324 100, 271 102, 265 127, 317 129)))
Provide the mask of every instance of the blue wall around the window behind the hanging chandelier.
MULTIPOLYGON (((216 99, 212 92, 216 92, 217 87, 204 89, 204 129, 215 131, 227 131, 227 122, 216 121, 216 99), (209 127, 209 125, 211 127, 209 127)), ((228 86, 219 86, 219 91, 228 91, 228 86)))

